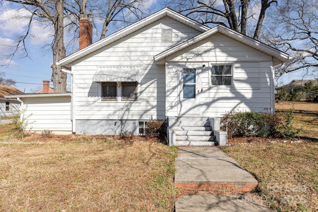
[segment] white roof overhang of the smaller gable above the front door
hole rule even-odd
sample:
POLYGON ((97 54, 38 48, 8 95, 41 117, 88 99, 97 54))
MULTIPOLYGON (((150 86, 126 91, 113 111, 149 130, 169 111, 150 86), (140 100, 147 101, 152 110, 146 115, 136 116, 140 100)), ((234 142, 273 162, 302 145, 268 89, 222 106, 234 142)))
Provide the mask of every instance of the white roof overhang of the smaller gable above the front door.
POLYGON ((214 35, 216 33, 221 33, 221 34, 224 34, 234 40, 237 40, 247 46, 250 46, 260 52, 263 52, 267 55, 270 55, 273 57, 273 61, 276 62, 274 65, 278 65, 280 63, 283 63, 283 62, 286 62, 288 60, 291 60, 291 57, 284 53, 284 52, 281 52, 273 47, 270 47, 262 42, 259 42, 253 38, 250 38, 246 35, 243 35, 237 31, 234 31, 228 27, 225 27, 225 26, 222 26, 222 25, 218 25, 206 32, 203 32, 202 34, 200 35, 197 35, 187 41, 184 41, 164 52, 161 52, 160 54, 156 55, 154 57, 154 60, 157 64, 164 64, 165 63, 165 58, 169 55, 172 55, 190 45, 193 45, 211 35, 214 35))

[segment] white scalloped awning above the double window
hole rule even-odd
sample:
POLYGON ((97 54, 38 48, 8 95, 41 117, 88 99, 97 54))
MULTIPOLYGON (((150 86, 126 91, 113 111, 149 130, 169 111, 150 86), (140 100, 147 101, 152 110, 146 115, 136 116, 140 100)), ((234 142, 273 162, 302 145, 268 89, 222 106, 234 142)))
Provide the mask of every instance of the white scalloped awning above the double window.
POLYGON ((141 82, 140 68, 133 67, 97 67, 94 82, 141 82))

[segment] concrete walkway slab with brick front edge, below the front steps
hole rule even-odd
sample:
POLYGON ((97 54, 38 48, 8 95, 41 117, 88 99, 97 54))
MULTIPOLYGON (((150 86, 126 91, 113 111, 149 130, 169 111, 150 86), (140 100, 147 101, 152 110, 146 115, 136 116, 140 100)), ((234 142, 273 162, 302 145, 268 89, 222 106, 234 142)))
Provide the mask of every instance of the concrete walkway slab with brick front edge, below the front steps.
POLYGON ((258 182, 239 163, 215 146, 179 146, 174 183, 184 190, 248 192, 258 182))

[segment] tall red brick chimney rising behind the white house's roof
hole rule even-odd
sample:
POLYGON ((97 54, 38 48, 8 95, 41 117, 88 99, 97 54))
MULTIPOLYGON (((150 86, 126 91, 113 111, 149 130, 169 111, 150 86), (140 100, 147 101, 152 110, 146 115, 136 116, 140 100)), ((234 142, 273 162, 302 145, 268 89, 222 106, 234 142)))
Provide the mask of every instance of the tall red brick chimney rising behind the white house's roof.
POLYGON ((92 25, 86 18, 79 19, 79 49, 92 43, 92 25))

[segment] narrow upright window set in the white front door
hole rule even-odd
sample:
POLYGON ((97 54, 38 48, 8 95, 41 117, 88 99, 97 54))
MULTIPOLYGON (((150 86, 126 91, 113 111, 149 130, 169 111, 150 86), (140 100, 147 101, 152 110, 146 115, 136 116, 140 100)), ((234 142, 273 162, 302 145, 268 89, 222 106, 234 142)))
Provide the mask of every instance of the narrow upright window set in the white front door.
POLYGON ((195 99, 195 69, 183 69, 183 98, 195 99))

